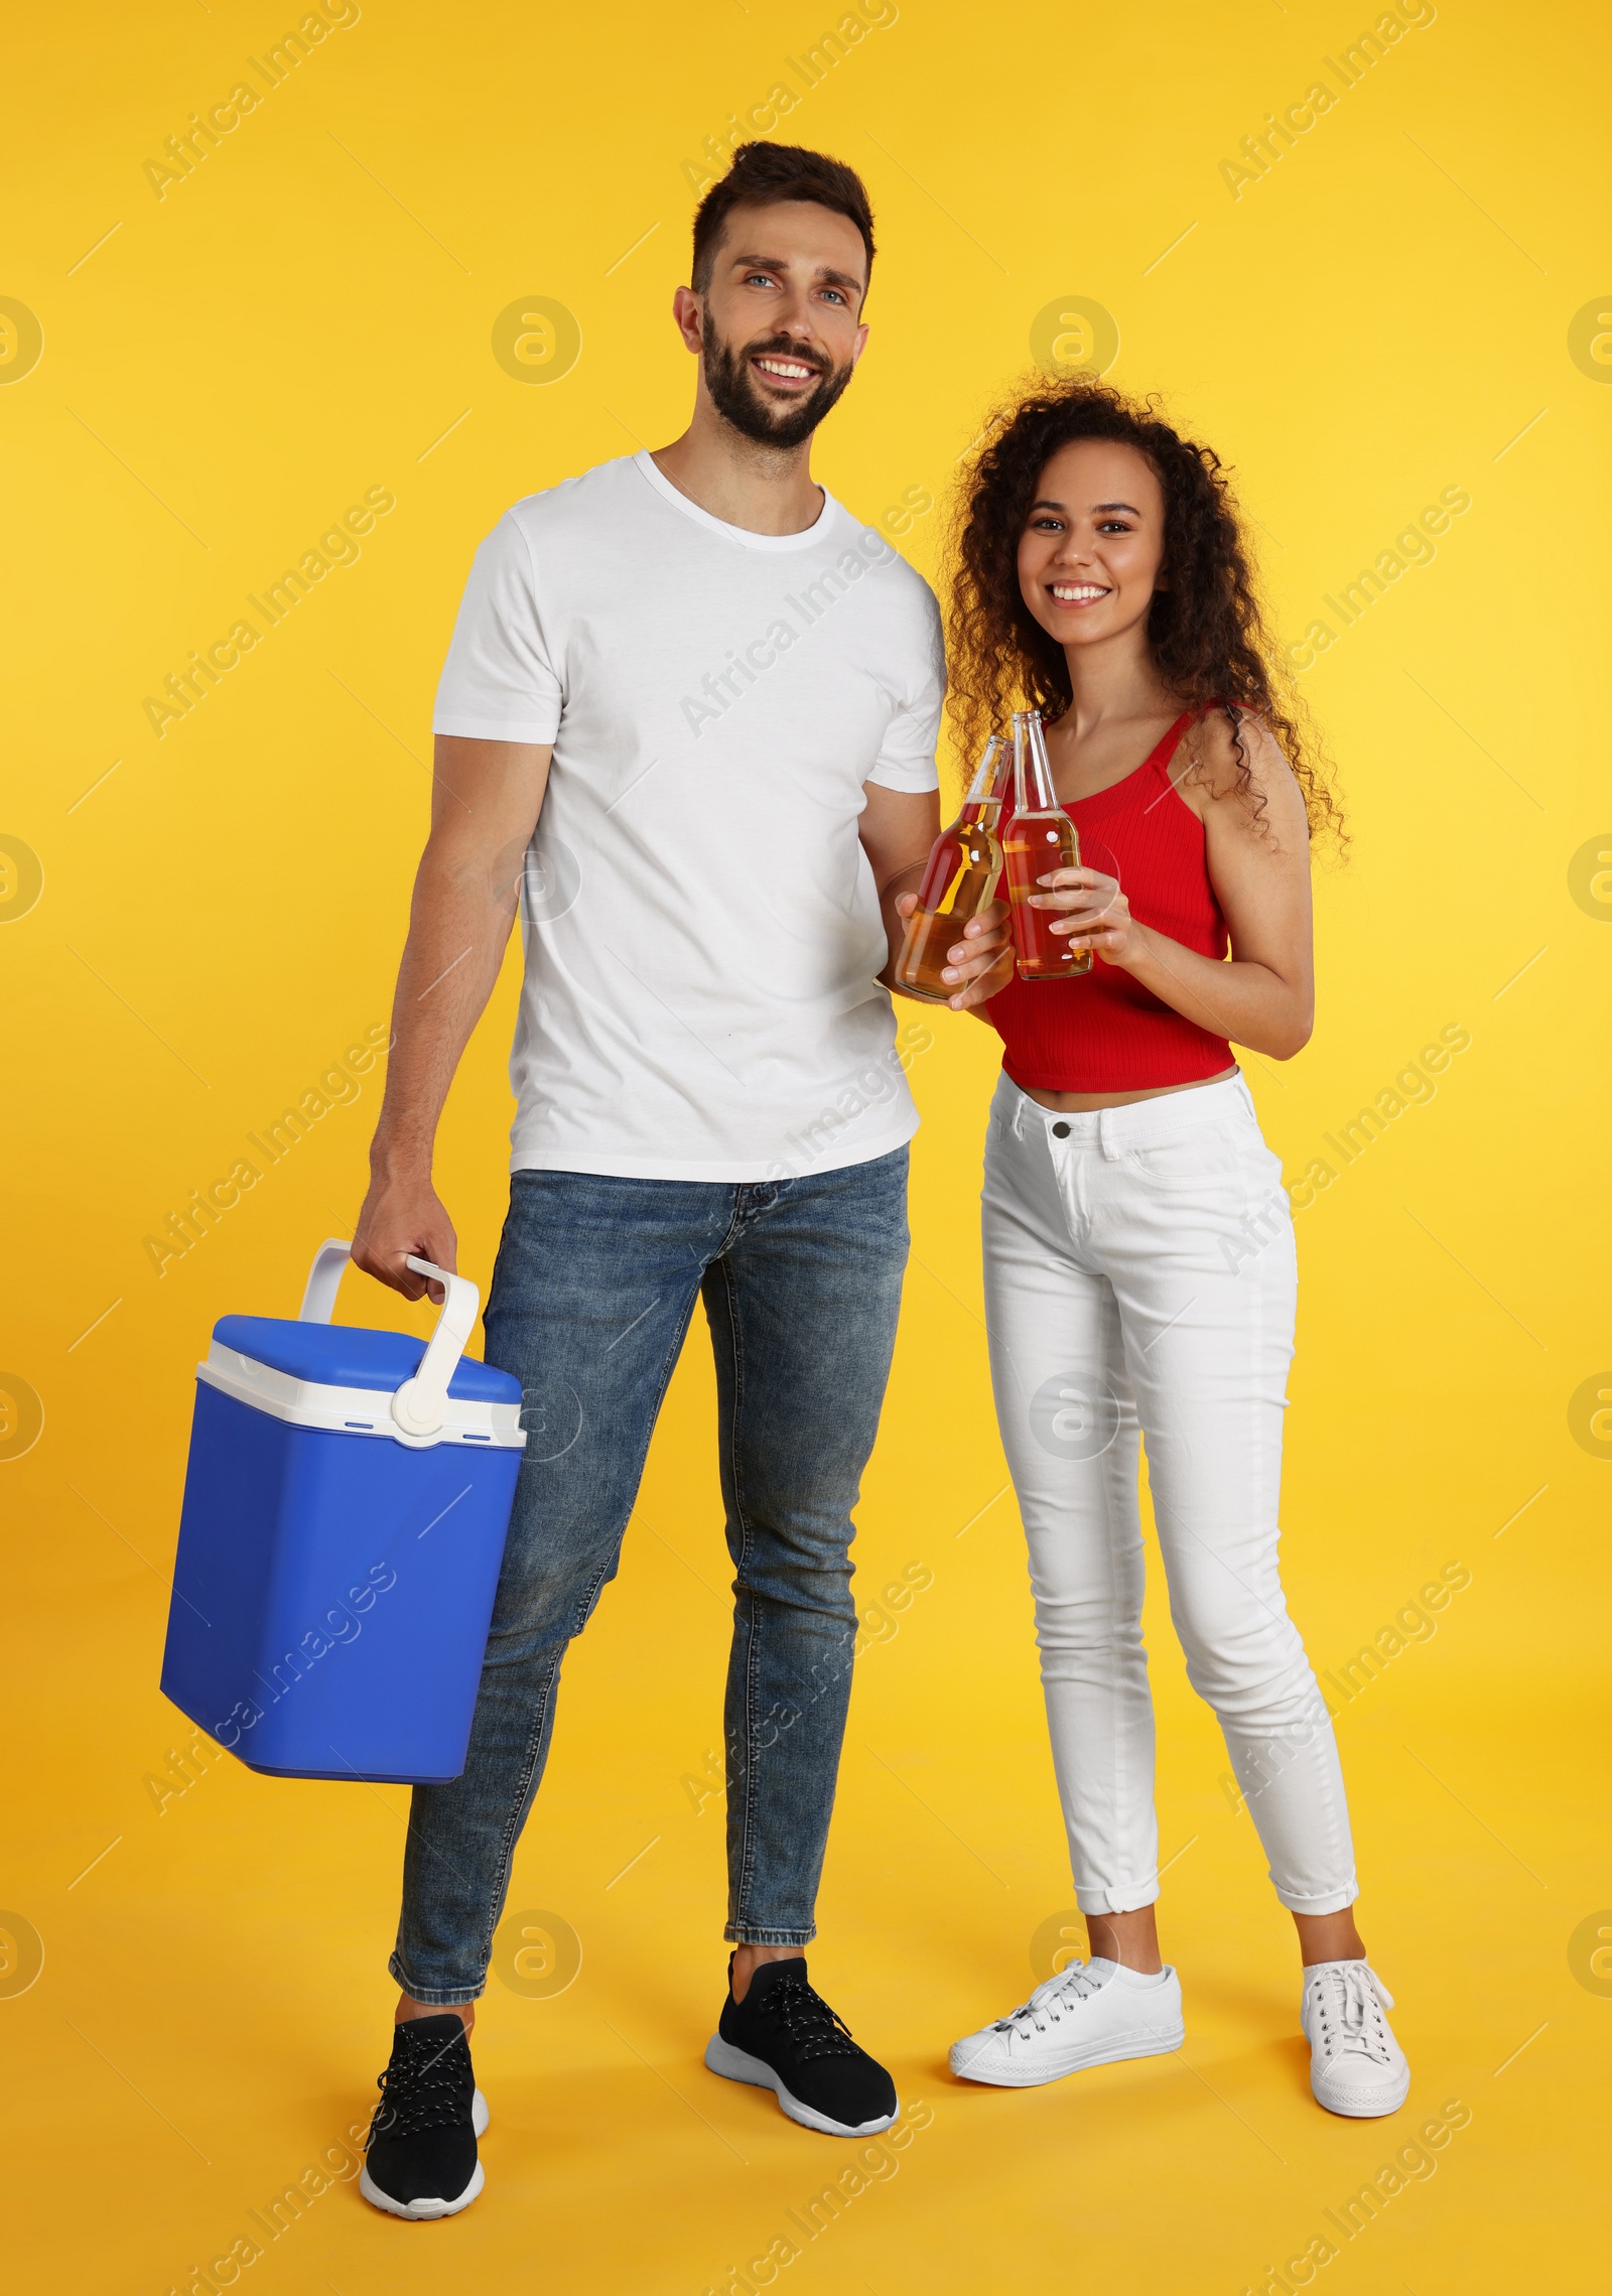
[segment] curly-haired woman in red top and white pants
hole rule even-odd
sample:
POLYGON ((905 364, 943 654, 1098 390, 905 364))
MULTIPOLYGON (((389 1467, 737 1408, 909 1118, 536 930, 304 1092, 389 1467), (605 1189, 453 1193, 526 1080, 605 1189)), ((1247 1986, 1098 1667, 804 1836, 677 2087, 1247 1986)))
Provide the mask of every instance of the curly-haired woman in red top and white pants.
POLYGON ((1309 1040, 1309 833, 1336 827, 1268 659, 1208 448, 1086 379, 999 418, 962 510, 953 700, 974 751, 1015 698, 1052 721, 1084 866, 1033 900, 1093 964, 1010 978, 981 1013, 1006 1047, 985 1297, 1091 1958, 951 2066, 1029 2087, 1183 2041, 1153 1915, 1141 1430, 1187 1674, 1297 1926, 1311 2089, 1371 2117, 1405 2101, 1410 2066, 1355 1929, 1339 1754, 1277 1570, 1293 1224, 1231 1056, 1309 1040))

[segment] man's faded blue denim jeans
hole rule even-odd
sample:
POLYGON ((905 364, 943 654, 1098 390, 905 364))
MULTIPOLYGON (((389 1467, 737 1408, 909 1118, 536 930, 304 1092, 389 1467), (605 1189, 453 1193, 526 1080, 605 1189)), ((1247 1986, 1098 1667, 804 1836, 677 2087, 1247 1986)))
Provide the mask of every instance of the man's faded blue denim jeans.
POLYGON ((560 1660, 615 1577, 696 1295, 735 1568, 726 1936, 811 1942, 857 1639, 850 1508, 905 1265, 905 1148, 744 1185, 514 1173, 487 1362, 521 1380, 528 1437, 464 1775, 413 1789, 390 1958, 413 2000, 482 1991, 560 1660))

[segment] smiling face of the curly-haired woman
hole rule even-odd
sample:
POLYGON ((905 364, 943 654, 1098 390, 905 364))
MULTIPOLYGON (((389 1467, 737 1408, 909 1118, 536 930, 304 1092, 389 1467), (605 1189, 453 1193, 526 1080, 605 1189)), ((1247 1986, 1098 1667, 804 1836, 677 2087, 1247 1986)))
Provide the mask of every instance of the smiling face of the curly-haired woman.
POLYGON ((1020 535, 1020 595, 1059 645, 1146 636, 1164 572, 1164 489, 1134 445, 1077 439, 1036 484, 1020 535))

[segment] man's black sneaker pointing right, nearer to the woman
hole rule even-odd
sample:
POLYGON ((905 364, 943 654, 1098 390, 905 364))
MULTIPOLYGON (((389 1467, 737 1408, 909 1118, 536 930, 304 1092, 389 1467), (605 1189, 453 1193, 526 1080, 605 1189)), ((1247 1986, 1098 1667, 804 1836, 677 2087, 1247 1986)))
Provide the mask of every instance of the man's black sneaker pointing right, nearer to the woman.
POLYGON ((728 1963, 728 2000, 705 2064, 723 2080, 772 2089, 792 2122, 831 2138, 877 2135, 900 2110, 891 2076, 806 1984, 804 1958, 762 1961, 742 2002, 728 1963))

